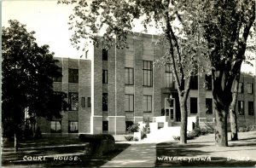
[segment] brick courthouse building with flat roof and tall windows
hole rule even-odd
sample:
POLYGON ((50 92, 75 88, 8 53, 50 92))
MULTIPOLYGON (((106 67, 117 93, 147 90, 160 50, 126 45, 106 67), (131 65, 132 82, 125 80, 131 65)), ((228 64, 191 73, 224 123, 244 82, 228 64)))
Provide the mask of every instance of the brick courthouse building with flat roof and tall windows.
MULTIPOLYGON (((125 134, 140 121, 164 116, 179 125, 180 110, 171 68, 154 67, 166 54, 157 37, 137 34, 128 38, 129 49, 92 48, 92 59, 56 58, 62 78, 54 78, 54 90, 67 93, 68 111, 62 119, 38 119, 45 135, 75 133, 125 134)), ((241 74, 236 105, 239 125, 255 124, 256 78, 241 74)), ((199 122, 215 122, 212 77, 194 76, 188 98, 189 116, 199 122)))

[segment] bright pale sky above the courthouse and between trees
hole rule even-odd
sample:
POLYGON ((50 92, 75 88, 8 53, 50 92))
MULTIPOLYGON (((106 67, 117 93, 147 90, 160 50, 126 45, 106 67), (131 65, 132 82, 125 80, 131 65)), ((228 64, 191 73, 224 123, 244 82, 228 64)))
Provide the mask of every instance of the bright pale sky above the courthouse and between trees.
MULTIPOLYGON (((28 32, 35 31, 38 44, 48 44, 55 56, 80 58, 84 52, 73 48, 69 40, 73 32, 68 30, 67 22, 72 13, 71 6, 57 4, 57 0, 3 0, 2 26, 9 26, 8 20, 19 20, 26 25, 28 32)), ((139 24, 135 25, 135 32, 143 31, 139 24)), ((154 30, 148 33, 154 33, 154 30)), ((256 61, 251 62, 254 67, 242 65, 242 71, 256 74, 256 61)))

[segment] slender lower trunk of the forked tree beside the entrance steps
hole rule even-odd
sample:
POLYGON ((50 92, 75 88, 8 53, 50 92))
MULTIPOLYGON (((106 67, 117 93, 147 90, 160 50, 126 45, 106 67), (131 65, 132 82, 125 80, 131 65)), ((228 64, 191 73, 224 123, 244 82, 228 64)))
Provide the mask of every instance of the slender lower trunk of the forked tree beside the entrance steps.
POLYGON ((187 125, 188 125, 188 112, 186 99, 179 96, 180 113, 181 113, 181 126, 180 126, 180 143, 187 143, 187 125))

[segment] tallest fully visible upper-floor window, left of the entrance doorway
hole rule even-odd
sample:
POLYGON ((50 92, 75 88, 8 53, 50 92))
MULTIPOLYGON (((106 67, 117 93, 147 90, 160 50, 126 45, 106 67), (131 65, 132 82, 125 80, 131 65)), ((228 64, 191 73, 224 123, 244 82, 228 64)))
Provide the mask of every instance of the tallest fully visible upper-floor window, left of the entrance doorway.
POLYGON ((143 61, 143 86, 152 86, 152 61, 143 61))

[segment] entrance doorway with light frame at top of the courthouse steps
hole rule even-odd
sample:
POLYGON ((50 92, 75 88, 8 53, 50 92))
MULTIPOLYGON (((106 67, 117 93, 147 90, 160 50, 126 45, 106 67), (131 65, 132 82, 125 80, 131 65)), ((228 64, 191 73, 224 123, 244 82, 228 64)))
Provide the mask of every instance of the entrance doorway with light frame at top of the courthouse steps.
POLYGON ((175 99, 165 98, 165 116, 169 121, 174 121, 176 118, 175 113, 175 99))

